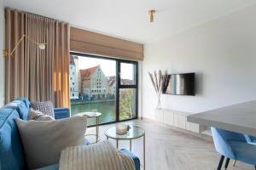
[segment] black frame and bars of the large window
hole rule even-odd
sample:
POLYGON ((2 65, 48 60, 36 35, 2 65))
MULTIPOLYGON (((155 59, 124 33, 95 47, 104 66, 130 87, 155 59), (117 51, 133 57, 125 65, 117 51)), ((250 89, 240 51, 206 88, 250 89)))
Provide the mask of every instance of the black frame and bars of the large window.
MULTIPOLYGON (((115 123, 115 122, 126 122, 126 121, 131 121, 134 119, 138 118, 138 61, 135 60, 128 60, 128 59, 117 59, 117 58, 111 58, 111 57, 106 57, 106 56, 102 56, 102 55, 96 55, 96 54, 81 54, 81 53, 77 53, 77 52, 70 52, 70 55, 79 55, 79 56, 83 56, 83 57, 90 57, 90 58, 95 58, 95 59, 109 59, 109 60, 114 60, 116 61, 116 73, 115 73, 115 77, 116 77, 116 89, 115 89, 115 93, 116 93, 116 105, 115 105, 115 121, 113 122, 103 122, 100 123, 99 125, 104 125, 104 124, 110 124, 110 123, 115 123), (122 85, 120 83, 121 81, 121 77, 120 77, 120 65, 121 63, 125 63, 125 64, 133 64, 135 65, 135 84, 133 85, 122 85), (136 107, 135 107, 135 116, 130 118, 130 119, 125 119, 125 120, 119 120, 119 89, 121 88, 135 88, 136 89, 136 107)), ((95 127, 96 125, 91 125, 89 127, 95 127)))

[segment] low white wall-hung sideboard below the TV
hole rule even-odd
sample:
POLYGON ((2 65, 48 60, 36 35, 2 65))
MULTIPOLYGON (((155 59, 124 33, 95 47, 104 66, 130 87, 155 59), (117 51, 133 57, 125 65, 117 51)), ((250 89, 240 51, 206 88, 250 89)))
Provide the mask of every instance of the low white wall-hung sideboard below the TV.
POLYGON ((183 111, 174 111, 169 109, 156 109, 154 111, 154 120, 172 127, 182 128, 194 133, 201 133, 207 130, 206 126, 188 122, 187 116, 193 115, 195 113, 183 112, 183 111))

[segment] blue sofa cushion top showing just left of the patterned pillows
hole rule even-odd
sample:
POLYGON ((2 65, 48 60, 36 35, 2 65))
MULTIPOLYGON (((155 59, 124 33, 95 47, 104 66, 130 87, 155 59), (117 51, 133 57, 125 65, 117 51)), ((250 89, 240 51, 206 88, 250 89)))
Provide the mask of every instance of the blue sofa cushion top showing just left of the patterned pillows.
POLYGON ((10 108, 10 109, 15 109, 18 111, 19 115, 20 115, 20 119, 22 120, 27 120, 27 114, 28 114, 28 110, 29 108, 26 107, 26 104, 21 101, 21 100, 14 100, 12 102, 10 102, 7 105, 4 105, 3 108, 10 108))

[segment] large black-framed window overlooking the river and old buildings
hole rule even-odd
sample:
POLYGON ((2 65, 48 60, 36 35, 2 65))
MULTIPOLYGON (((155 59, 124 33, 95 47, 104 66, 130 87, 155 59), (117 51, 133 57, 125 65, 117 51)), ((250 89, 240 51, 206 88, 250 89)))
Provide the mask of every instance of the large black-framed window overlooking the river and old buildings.
MULTIPOLYGON (((102 113, 100 123, 137 118, 137 62, 71 53, 71 115, 102 113)), ((89 126, 95 120, 89 119, 89 126)))

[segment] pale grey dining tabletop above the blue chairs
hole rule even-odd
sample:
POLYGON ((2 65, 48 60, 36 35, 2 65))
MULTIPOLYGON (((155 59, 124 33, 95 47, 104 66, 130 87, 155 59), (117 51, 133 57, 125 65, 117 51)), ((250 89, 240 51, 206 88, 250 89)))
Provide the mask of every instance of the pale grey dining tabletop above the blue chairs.
POLYGON ((190 115, 188 122, 256 136, 256 100, 190 115))

